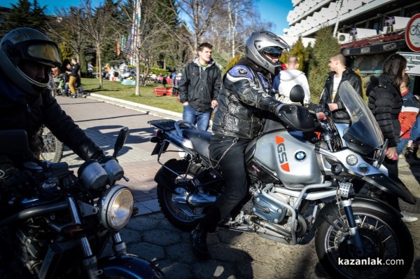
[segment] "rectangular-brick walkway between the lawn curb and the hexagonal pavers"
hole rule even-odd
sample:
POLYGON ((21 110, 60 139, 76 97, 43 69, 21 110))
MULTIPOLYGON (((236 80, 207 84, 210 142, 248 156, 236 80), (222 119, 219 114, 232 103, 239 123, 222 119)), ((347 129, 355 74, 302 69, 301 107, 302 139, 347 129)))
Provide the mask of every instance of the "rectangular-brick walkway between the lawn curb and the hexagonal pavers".
MULTIPOLYGON (((94 100, 93 96, 77 99, 58 96, 57 102, 80 128, 85 130, 87 136, 109 155, 113 154, 113 144, 120 129, 124 126, 130 129, 127 142, 118 156, 118 161, 130 181, 121 183, 132 189, 140 215, 159 211, 156 202, 156 182, 153 178, 160 165, 157 156, 151 156, 155 145, 149 142, 149 139, 153 136, 155 128, 149 127, 147 121, 159 118, 157 115, 161 112, 134 106, 126 109, 125 105, 123 107, 108 104, 103 100, 94 100)), ((167 117, 180 119, 181 115, 169 114, 167 117)), ((64 150, 63 161, 69 163, 70 168, 74 170, 83 163, 67 147, 64 150)))

